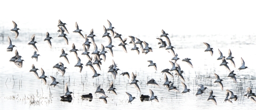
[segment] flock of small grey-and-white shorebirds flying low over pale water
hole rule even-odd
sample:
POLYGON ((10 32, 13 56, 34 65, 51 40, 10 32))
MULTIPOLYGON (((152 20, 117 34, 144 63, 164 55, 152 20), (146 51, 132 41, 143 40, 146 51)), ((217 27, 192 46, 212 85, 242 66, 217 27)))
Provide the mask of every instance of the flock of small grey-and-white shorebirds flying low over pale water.
MULTIPOLYGON (((15 32, 15 39, 17 39, 18 35, 19 35, 18 30, 20 30, 20 29, 17 27, 17 24, 14 21, 12 21, 12 22, 14 24, 14 28, 11 31, 15 32)), ((89 61, 86 63, 85 66, 87 66, 87 67, 89 66, 92 69, 92 71, 94 73, 92 78, 100 76, 100 74, 98 74, 97 71, 94 69, 94 66, 96 65, 99 68, 99 70, 101 70, 101 68, 100 68, 100 65, 102 65, 101 61, 102 60, 104 60, 104 61, 106 60, 106 53, 109 52, 111 54, 111 56, 114 57, 114 53, 113 53, 113 50, 112 50, 112 48, 114 47, 114 45, 112 45, 112 38, 118 38, 120 40, 120 43, 119 43, 118 46, 121 46, 123 48, 124 52, 127 53, 127 50, 126 50, 127 43, 125 43, 127 41, 127 38, 122 39, 122 37, 121 37, 122 34, 118 34, 117 32, 115 32, 114 31, 115 27, 112 26, 112 24, 109 21, 108 21, 108 24, 109 24, 108 28, 103 26, 104 33, 102 35, 102 38, 107 37, 109 42, 108 42, 108 45, 106 47, 104 47, 103 44, 101 44, 101 52, 100 52, 100 51, 98 51, 97 44, 94 41, 94 36, 95 35, 93 34, 93 29, 91 30, 89 35, 86 35, 86 34, 83 35, 81 33, 82 30, 79 29, 78 24, 75 23, 75 28, 76 29, 73 32, 78 33, 83 39, 85 39, 85 42, 83 43, 84 51, 83 51, 82 55, 86 56, 89 59, 89 61), (109 31, 111 32, 111 34, 108 33, 109 31), (91 42, 89 41, 89 38, 90 38, 91 42), (90 53, 87 50, 90 49, 90 45, 91 44, 94 46, 94 51, 92 51, 90 53), (109 51, 108 52, 105 51, 105 48, 108 48, 109 51), (93 56, 93 57, 90 57, 90 56, 93 56)), ((68 44, 67 34, 65 34, 65 33, 69 33, 69 32, 68 32, 68 30, 67 30, 65 25, 66 25, 66 23, 63 23, 63 22, 61 22, 59 20, 59 23, 58 23, 59 36, 58 37, 64 38, 65 42, 68 44)), ((171 69, 164 69, 164 70, 162 70, 162 72, 165 73, 164 74, 165 82, 164 82, 163 86, 165 86, 169 91, 173 90, 173 91, 176 91, 176 92, 180 92, 177 87, 173 86, 174 82, 169 81, 169 79, 167 77, 167 75, 169 75, 169 77, 173 78, 174 75, 171 73, 171 71, 175 71, 175 76, 179 76, 178 78, 181 79, 181 84, 183 85, 183 88, 184 88, 184 90, 182 90, 181 93, 185 94, 185 93, 189 92, 190 89, 187 88, 187 86, 185 84, 185 79, 182 76, 182 73, 184 73, 184 71, 181 70, 180 65, 177 63, 177 60, 179 60, 180 58, 178 58, 178 54, 174 52, 174 47, 171 45, 171 40, 169 39, 168 35, 169 35, 168 33, 165 33, 165 31, 162 30, 162 34, 160 35, 160 37, 156 38, 156 39, 159 40, 159 43, 158 43, 158 44, 160 44, 159 48, 164 48, 167 52, 171 52, 173 54, 173 58, 172 58, 173 61, 170 61, 171 65, 172 65, 171 69), (164 37, 166 39, 166 41, 161 39, 162 37, 164 37)), ((148 52, 153 52, 153 49, 151 47, 149 47, 149 44, 146 41, 141 41, 140 39, 135 38, 134 36, 129 36, 129 37, 131 38, 131 41, 129 43, 133 44, 133 48, 131 48, 131 50, 137 51, 138 54, 140 54, 140 50, 141 50, 142 53, 145 53, 145 54, 147 54, 148 52), (139 45, 140 49, 139 49, 139 47, 137 47, 137 45, 139 45)), ((9 36, 8 36, 7 39, 9 41, 9 47, 7 48, 7 51, 13 51, 13 48, 15 47, 15 45, 12 44, 12 41, 11 41, 9 36)), ((47 32, 46 33, 46 38, 44 39, 44 41, 47 41, 47 43, 49 43, 49 47, 50 48, 52 48, 51 39, 52 39, 52 37, 50 37, 50 34, 47 32)), ((37 42, 35 41, 35 34, 34 34, 34 35, 31 36, 31 41, 28 43, 28 45, 32 45, 34 50, 35 50, 35 52, 34 52, 34 54, 33 54, 33 56, 31 58, 35 58, 36 61, 38 61, 38 56, 40 56, 40 55, 37 54, 38 49, 36 47, 36 43, 37 42)), ((210 47, 210 44, 205 43, 205 42, 204 42, 204 44, 207 46, 205 51, 209 51, 211 53, 211 56, 213 56, 213 49, 210 47)), ((81 72, 82 69, 83 69, 83 63, 81 63, 81 59, 78 57, 77 51, 78 50, 76 49, 75 44, 73 43, 72 49, 69 52, 74 52, 75 53, 76 58, 77 58, 77 64, 75 65, 75 67, 79 67, 79 69, 80 69, 79 72, 81 72)), ((220 54, 220 57, 217 60, 222 60, 220 66, 226 67, 226 69, 230 72, 228 77, 233 78, 234 82, 237 83, 236 77, 235 77, 236 74, 234 74, 234 70, 231 71, 229 69, 229 67, 227 65, 228 62, 226 61, 226 60, 230 61, 232 63, 232 65, 235 67, 235 62, 233 60, 234 57, 232 57, 230 49, 229 49, 229 54, 228 54, 227 58, 222 55, 220 50, 219 50, 219 54, 220 54)), ((61 50, 61 54, 60 54, 60 58, 63 57, 67 61, 67 63, 69 63, 67 55, 68 54, 65 53, 65 51, 62 49, 61 50)), ((193 65, 192 65, 190 60, 191 59, 189 59, 189 58, 182 59, 182 61, 187 62, 188 65, 191 68, 193 68, 193 65)), ((22 68, 22 63, 23 63, 24 60, 21 59, 21 56, 19 55, 18 51, 15 50, 15 56, 12 57, 10 59, 10 61, 13 62, 19 68, 22 68)), ((108 72, 110 72, 113 75, 114 79, 116 79, 117 71, 119 69, 117 68, 117 65, 116 65, 115 61, 113 60, 112 62, 113 62, 113 64, 109 66, 108 72)), ((148 60, 148 62, 149 62, 148 67, 153 66, 155 68, 155 70, 157 70, 156 63, 154 63, 152 60, 148 60)), ((246 69, 247 67, 245 67, 245 62, 244 62, 244 60, 242 58, 241 58, 241 62, 242 62, 242 66, 239 67, 238 69, 239 70, 246 69)), ((64 64, 62 62, 57 63, 56 65, 53 66, 53 68, 55 68, 58 71, 60 71, 62 73, 62 76, 65 75, 66 67, 64 66, 64 64)), ((44 81, 44 84, 46 85, 46 79, 45 78, 47 76, 45 76, 45 72, 44 72, 43 68, 41 68, 41 76, 38 76, 37 70, 39 70, 39 69, 37 69, 34 66, 34 64, 33 64, 32 65, 32 69, 30 70, 30 72, 34 72, 36 78, 37 79, 42 79, 44 81)), ((127 78, 129 79, 129 84, 130 85, 134 85, 135 88, 137 88, 137 90, 140 91, 140 87, 137 84, 137 82, 139 82, 139 80, 137 80, 137 75, 136 74, 133 74, 133 72, 132 72, 131 77, 130 77, 129 72, 122 72, 121 75, 123 75, 123 76, 126 75, 127 78)), ((223 85, 222 85, 222 82, 221 82, 223 80, 217 74, 214 74, 214 75, 216 77, 216 80, 214 81, 214 83, 215 82, 218 83, 220 85, 221 89, 223 90, 223 85)), ((53 76, 50 76, 50 77, 52 78, 51 86, 55 87, 57 84, 59 84, 59 82, 53 76)), ((147 85, 149 85, 149 84, 155 85, 155 86, 159 86, 154 79, 149 80, 147 82, 147 85)), ((207 87, 204 87, 204 85, 201 85, 201 84, 198 85, 198 87, 199 88, 197 89, 196 96, 197 95, 202 95, 204 93, 204 90, 207 89, 207 87)), ((65 89, 66 89, 66 94, 64 96, 61 96, 61 97, 62 98, 66 97, 68 99, 71 98, 71 94, 73 94, 73 93, 71 91, 69 91, 67 83, 65 85, 65 89)), ((114 83, 112 81, 110 83, 110 87, 109 87, 108 91, 112 91, 115 95, 117 95, 115 89, 116 88, 114 88, 114 83)), ((149 91, 150 91, 150 95, 149 96, 148 95, 141 95, 140 98, 141 99, 148 99, 149 101, 150 100, 156 100, 156 102, 158 102, 157 96, 155 96, 153 90, 149 89, 149 91)), ((107 103, 107 99, 106 98, 108 96, 105 94, 105 91, 100 86, 97 87, 95 93, 101 94, 102 96, 100 96, 99 98, 103 99, 104 102, 107 103)), ((127 92, 126 92, 126 94, 129 96, 129 103, 131 103, 132 100, 135 97, 132 97, 132 95, 127 93, 127 92)), ((253 102, 256 103, 256 100, 254 99, 254 97, 256 97, 256 96, 255 96, 254 93, 252 93, 252 89, 250 87, 247 89, 247 94, 245 96, 248 97, 248 98, 250 97, 250 99, 253 100, 253 102)), ((92 98, 92 94, 90 93, 88 95, 82 95, 82 97, 84 97, 84 98, 92 98)), ((214 104, 217 105, 217 102, 216 102, 214 97, 215 96, 213 95, 213 90, 211 90, 210 94, 209 94, 209 98, 207 100, 212 100, 214 102, 214 104)), ((237 98, 238 98, 237 95, 234 95, 233 91, 228 90, 228 89, 226 90, 225 102, 228 101, 228 102, 232 103, 231 99, 235 99, 235 101, 236 101, 237 98)))

